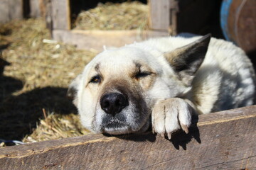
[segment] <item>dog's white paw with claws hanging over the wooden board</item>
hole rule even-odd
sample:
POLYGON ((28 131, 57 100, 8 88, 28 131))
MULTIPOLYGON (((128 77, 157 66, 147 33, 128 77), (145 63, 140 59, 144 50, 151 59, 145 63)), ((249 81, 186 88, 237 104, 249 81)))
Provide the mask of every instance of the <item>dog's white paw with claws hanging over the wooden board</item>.
POLYGON ((161 136, 167 135, 171 139, 171 133, 182 129, 188 133, 191 125, 192 108, 182 98, 167 98, 157 101, 152 111, 153 132, 161 136))

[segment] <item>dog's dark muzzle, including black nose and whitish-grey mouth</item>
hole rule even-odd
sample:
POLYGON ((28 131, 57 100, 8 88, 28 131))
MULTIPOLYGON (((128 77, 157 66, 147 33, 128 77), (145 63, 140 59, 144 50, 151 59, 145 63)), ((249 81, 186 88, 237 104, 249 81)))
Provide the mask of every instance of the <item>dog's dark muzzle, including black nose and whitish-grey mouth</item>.
MULTIPOLYGON (((100 132, 121 135, 145 131, 149 128, 148 115, 143 100, 136 99, 131 93, 108 92, 100 98, 100 132), (129 96, 127 95, 129 94, 129 96)), ((141 98, 139 98, 141 99, 141 98)))

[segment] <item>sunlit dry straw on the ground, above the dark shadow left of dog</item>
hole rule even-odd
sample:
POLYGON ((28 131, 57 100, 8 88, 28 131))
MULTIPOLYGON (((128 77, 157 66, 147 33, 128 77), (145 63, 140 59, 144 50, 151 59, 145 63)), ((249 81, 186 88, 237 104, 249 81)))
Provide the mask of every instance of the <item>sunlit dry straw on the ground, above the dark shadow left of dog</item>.
POLYGON ((11 62, 5 75, 23 80, 24 88, 19 93, 34 87, 66 87, 95 55, 95 51, 76 50, 74 46, 60 42, 44 43, 44 39, 50 39, 44 25, 41 19, 30 19, 13 21, 2 27, 11 32, 1 36, 10 43, 2 52, 2 58, 11 62))

